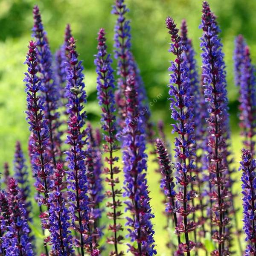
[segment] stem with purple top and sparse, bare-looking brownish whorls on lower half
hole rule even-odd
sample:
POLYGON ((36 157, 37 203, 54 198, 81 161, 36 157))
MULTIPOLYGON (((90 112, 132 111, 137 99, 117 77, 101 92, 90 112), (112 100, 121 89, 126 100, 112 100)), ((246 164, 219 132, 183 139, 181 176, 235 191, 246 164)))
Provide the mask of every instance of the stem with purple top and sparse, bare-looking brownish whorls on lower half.
POLYGON ((102 109, 102 130, 104 131, 105 144, 103 145, 104 152, 108 154, 105 157, 105 163, 108 166, 104 168, 104 174, 108 175, 105 181, 110 185, 111 189, 106 191, 106 196, 111 199, 106 206, 110 208, 107 213, 108 218, 113 219, 113 224, 108 226, 113 236, 107 238, 108 244, 114 245, 114 250, 111 251, 111 256, 122 256, 123 251, 118 250, 118 244, 122 243, 123 237, 119 233, 123 230, 122 225, 118 223, 122 212, 118 209, 122 206, 119 197, 122 195, 121 189, 117 189, 119 178, 116 175, 120 172, 115 163, 119 157, 114 156, 114 152, 119 148, 116 143, 116 116, 115 116, 115 99, 113 95, 114 78, 113 69, 111 67, 111 57, 107 53, 106 38, 104 29, 100 29, 98 33, 98 54, 96 55, 95 65, 97 77, 97 91, 99 105, 102 109))

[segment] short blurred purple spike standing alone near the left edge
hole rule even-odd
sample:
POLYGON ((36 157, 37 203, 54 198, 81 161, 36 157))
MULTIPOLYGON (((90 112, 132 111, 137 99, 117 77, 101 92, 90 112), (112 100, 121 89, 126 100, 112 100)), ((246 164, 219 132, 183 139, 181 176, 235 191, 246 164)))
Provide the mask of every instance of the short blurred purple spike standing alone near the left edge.
POLYGON ((30 196, 30 187, 29 187, 29 180, 28 180, 28 171, 27 166, 25 164, 25 158, 23 155, 23 151, 20 146, 20 142, 17 141, 16 143, 16 150, 15 150, 15 160, 14 160, 14 171, 15 171, 15 178, 17 180, 20 192, 19 198, 20 202, 23 204, 23 208, 26 210, 26 220, 31 221, 29 214, 31 212, 31 202, 29 201, 30 196))

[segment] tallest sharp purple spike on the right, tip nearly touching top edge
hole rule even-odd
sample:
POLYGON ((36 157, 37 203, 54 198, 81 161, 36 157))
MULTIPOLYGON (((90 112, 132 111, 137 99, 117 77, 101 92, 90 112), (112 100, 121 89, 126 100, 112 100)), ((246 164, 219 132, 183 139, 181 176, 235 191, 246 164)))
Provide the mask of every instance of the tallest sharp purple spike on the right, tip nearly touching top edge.
POLYGON ((208 145, 209 145, 209 174, 212 187, 210 197, 215 203, 212 205, 212 224, 218 227, 212 239, 218 243, 218 250, 212 255, 226 255, 229 252, 226 241, 229 240, 227 225, 230 220, 228 212, 230 204, 227 198, 227 90, 224 71, 222 44, 218 38, 220 29, 216 23, 215 15, 211 12, 209 4, 204 1, 201 29, 201 47, 203 49, 203 76, 205 99, 208 102, 208 145))

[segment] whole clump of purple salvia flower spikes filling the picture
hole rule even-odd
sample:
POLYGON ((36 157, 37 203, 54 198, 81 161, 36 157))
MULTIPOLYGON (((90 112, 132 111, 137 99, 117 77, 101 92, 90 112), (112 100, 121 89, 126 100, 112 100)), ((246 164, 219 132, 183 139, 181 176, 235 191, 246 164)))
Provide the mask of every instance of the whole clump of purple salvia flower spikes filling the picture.
POLYGON ((17 141, 13 166, 6 162, 0 171, 0 256, 153 256, 161 233, 155 217, 169 233, 161 233, 165 255, 256 256, 255 67, 250 47, 238 35, 234 84, 244 148, 236 169, 221 30, 209 3, 202 5, 200 46, 189 39, 186 20, 180 29, 172 17, 165 20, 173 145, 164 122, 151 119, 125 0, 113 3, 114 39, 107 40, 100 28, 92 53, 99 127, 86 114, 87 70, 71 26, 53 53, 34 7, 23 80, 28 156, 17 141), (238 176, 242 213, 233 193, 238 176), (154 189, 162 192, 161 216, 152 207, 154 189))

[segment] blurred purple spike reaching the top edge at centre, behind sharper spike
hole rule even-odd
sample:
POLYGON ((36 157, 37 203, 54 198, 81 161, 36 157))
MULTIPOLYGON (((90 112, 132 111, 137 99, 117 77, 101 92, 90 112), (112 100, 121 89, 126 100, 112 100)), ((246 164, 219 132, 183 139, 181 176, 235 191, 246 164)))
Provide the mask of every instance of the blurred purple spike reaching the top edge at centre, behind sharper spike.
POLYGON ((131 34, 130 34, 130 20, 126 20, 125 14, 129 12, 129 9, 124 3, 124 0, 116 0, 116 4, 113 6, 112 13, 117 15, 115 35, 114 35, 114 47, 115 58, 117 59, 117 75, 119 79, 117 81, 118 89, 116 91, 116 105, 119 112, 119 125, 123 127, 125 125, 126 118, 126 99, 125 90, 127 87, 127 79, 129 73, 131 73, 131 34))

